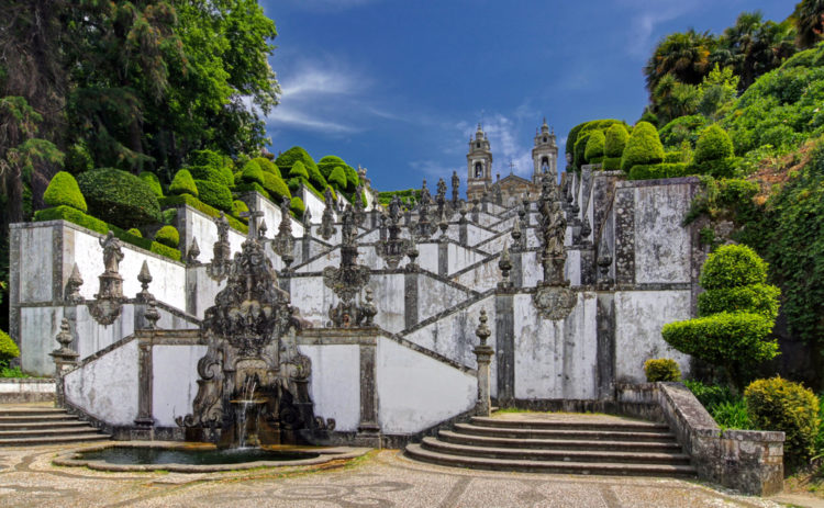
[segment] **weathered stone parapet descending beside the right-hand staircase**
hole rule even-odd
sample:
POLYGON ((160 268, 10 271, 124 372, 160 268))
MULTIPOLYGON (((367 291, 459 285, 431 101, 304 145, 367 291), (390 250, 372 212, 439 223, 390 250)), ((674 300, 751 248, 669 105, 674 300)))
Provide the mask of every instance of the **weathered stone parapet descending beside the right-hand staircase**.
POLYGON ((783 488, 783 432, 722 430, 682 383, 619 385, 616 395, 661 408, 699 478, 758 496, 783 488))

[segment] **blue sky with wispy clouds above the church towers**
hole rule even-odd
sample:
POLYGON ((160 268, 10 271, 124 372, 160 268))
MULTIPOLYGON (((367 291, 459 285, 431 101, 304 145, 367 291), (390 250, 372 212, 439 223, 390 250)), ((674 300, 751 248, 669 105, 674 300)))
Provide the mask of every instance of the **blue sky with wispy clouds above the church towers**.
MULTIPOLYGON (((493 171, 530 174, 546 116, 563 153, 593 118, 634 123, 642 68, 666 34, 721 33, 742 11, 780 21, 792 1, 261 0, 278 26, 281 103, 270 149, 304 147, 361 165, 378 190, 457 170, 483 124, 493 171)), ((432 185, 431 185, 432 187, 432 185)))

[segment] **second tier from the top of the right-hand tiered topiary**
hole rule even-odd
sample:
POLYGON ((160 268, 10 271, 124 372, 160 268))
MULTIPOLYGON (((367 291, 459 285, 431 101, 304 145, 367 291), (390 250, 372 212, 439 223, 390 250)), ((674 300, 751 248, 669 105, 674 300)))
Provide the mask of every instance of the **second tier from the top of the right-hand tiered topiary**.
POLYGON ((698 314, 709 316, 722 312, 747 312, 775 319, 780 295, 781 291, 769 284, 706 290, 698 295, 698 314))

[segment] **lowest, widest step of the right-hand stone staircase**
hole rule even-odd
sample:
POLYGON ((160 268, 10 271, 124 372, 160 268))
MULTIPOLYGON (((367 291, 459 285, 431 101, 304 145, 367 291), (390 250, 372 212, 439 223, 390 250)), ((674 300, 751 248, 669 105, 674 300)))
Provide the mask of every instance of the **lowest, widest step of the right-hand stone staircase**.
POLYGON ((426 450, 421 444, 408 445, 405 453, 420 461, 453 467, 553 474, 695 477, 695 469, 691 465, 488 459, 439 453, 426 450))

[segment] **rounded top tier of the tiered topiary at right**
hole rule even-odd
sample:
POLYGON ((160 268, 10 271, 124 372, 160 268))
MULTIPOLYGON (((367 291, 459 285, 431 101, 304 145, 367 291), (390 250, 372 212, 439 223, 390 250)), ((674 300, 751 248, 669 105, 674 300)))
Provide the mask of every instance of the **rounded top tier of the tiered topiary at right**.
POLYGON ((699 283, 705 290, 737 287, 767 282, 767 263, 744 245, 725 245, 712 252, 701 269, 699 283))

